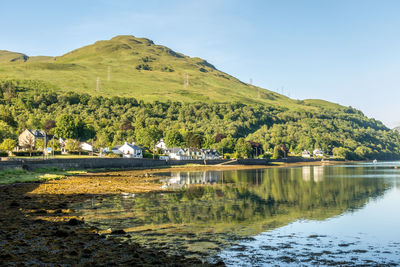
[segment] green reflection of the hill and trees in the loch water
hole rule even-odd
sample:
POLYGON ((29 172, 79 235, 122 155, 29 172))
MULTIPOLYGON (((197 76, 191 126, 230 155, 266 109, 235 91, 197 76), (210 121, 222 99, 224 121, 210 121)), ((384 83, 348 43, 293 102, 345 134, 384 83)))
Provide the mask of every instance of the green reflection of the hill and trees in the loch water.
POLYGON ((95 202, 96 209, 84 203, 81 212, 87 222, 125 228, 144 244, 210 253, 299 219, 322 220, 359 209, 388 188, 378 178, 343 178, 365 171, 308 166, 171 173, 164 185, 185 190, 110 197, 95 202))

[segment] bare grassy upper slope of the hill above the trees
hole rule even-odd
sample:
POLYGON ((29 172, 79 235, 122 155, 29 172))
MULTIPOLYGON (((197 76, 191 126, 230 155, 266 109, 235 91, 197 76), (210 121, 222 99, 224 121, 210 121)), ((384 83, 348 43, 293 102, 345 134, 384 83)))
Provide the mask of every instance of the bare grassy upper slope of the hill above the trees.
POLYGON ((0 79, 40 80, 61 91, 135 97, 146 102, 238 101, 307 109, 320 104, 311 101, 304 106, 306 102, 298 103, 243 83, 201 58, 191 58, 134 36, 98 41, 60 57, 29 57, 0 51, 0 79))

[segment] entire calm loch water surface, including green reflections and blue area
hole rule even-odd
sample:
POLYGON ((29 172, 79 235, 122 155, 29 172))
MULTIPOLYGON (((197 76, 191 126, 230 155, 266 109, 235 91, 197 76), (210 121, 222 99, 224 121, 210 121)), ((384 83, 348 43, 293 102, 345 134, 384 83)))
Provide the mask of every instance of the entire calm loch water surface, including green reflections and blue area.
POLYGON ((175 193, 75 209, 144 246, 231 266, 400 264, 399 162, 159 175, 175 193))

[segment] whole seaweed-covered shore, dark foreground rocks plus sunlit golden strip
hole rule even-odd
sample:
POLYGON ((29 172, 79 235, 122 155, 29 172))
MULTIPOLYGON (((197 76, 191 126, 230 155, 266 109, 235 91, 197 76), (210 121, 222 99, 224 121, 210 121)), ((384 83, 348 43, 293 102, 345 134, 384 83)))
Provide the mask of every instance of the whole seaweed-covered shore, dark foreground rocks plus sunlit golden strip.
MULTIPOLYGON (((279 167, 284 166, 287 165, 279 167)), ((249 168, 260 166, 208 166, 173 170, 249 168)), ((210 265, 200 259, 173 256, 156 248, 145 248, 135 241, 127 242, 129 235, 121 229, 103 233, 85 224, 84 218, 73 216, 73 204, 96 196, 165 191, 153 174, 169 171, 171 169, 124 171, 123 174, 89 173, 61 180, 0 186, 0 265, 210 265)))

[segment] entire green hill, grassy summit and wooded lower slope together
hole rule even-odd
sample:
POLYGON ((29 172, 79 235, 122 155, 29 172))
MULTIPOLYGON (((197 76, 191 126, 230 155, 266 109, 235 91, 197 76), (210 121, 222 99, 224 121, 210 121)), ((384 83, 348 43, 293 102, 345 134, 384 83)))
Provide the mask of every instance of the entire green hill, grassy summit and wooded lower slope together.
POLYGON ((177 145, 244 156, 251 145, 240 138, 277 154, 321 148, 348 159, 400 157, 400 134, 356 109, 293 100, 133 36, 59 57, 0 51, 0 142, 48 125, 97 147, 127 140, 151 147, 173 135, 177 145))

